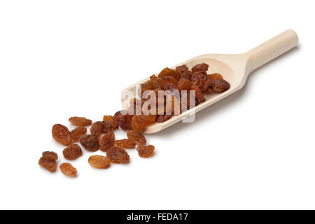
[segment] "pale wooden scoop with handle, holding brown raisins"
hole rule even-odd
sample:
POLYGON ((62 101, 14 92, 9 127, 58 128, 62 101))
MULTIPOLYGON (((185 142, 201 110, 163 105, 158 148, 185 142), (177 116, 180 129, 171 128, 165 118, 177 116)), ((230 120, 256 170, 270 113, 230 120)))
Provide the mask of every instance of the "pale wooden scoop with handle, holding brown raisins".
MULTIPOLYGON (((195 64, 200 64, 202 62, 209 64, 209 69, 211 73, 221 73, 223 78, 230 83, 230 89, 223 93, 211 93, 204 94, 206 98, 206 102, 199 104, 194 109, 190 109, 181 113, 179 116, 172 116, 165 123, 154 123, 146 128, 144 133, 151 134, 155 132, 159 132, 160 130, 164 130, 165 128, 178 123, 179 121, 188 118, 193 113, 201 111, 202 109, 218 102, 220 99, 228 97, 228 95, 240 90, 246 83, 248 74, 258 67, 266 64, 272 59, 282 55, 284 52, 294 48, 298 43, 298 37, 295 31, 292 29, 288 29, 283 33, 275 36, 269 41, 262 43, 253 50, 249 50, 244 54, 240 55, 200 55, 197 57, 193 57, 192 59, 188 59, 186 62, 181 62, 176 65, 179 66, 181 64, 186 64, 189 69, 195 64)), ((175 69, 176 66, 171 67, 175 69)), ((158 75, 158 74, 157 74, 158 75)), ((127 98, 126 91, 131 91, 134 96, 136 94, 136 86, 145 83, 150 78, 146 78, 139 83, 136 83, 122 92, 122 104, 123 109, 127 109, 127 98)))

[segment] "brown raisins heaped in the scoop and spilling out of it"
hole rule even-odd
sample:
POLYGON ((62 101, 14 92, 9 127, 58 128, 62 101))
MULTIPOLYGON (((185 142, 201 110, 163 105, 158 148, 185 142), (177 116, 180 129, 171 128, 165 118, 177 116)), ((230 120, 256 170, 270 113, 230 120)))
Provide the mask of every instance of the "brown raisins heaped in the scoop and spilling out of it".
MULTIPOLYGON (((186 64, 177 66, 176 69, 165 68, 158 76, 150 76, 146 83, 141 84, 139 99, 132 98, 126 110, 118 111, 113 116, 106 115, 94 123, 84 117, 71 117, 69 123, 76 128, 70 131, 64 125, 53 125, 52 138, 66 146, 62 152, 66 160, 80 158, 83 155, 81 147, 89 153, 104 153, 91 155, 87 161, 97 169, 107 169, 111 167, 111 163, 129 163, 130 155, 125 149, 137 148, 139 157, 150 158, 154 155, 155 146, 146 145, 146 137, 142 134, 149 125, 164 123, 172 116, 191 109, 193 105, 190 105, 190 97, 194 96, 197 106, 206 101, 206 94, 229 90, 230 84, 223 76, 219 73, 208 74, 208 69, 209 65, 206 63, 196 64, 191 69, 186 64), (151 97, 155 97, 156 105, 148 104, 151 97), (126 132, 127 138, 116 139, 114 132, 119 127, 126 132)), ((55 172, 57 159, 57 153, 43 152, 38 164, 55 172)), ((69 162, 62 163, 59 169, 66 176, 73 177, 77 174, 76 168, 69 162)))

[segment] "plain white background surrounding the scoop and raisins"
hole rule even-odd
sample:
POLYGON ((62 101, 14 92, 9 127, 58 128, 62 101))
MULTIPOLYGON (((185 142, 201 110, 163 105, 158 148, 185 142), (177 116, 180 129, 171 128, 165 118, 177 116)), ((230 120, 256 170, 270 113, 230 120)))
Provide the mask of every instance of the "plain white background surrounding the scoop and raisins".
MULTIPOLYGON (((1 1, 0 209, 315 209, 313 1, 1 1), (120 109, 120 91, 205 53, 240 53, 286 29, 298 48, 244 89, 147 135, 153 158, 72 162, 51 137, 71 116, 120 109)), ((73 126, 70 126, 73 128, 73 126)), ((116 132, 116 139, 125 137, 116 132)))

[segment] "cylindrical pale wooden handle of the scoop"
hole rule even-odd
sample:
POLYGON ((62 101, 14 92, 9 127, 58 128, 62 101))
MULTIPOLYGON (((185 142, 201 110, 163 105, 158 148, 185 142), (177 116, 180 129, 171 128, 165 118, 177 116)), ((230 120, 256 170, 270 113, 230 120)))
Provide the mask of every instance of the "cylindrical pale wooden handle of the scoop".
POLYGON ((282 55, 284 52, 297 46, 299 38, 292 29, 288 29, 283 33, 274 36, 269 41, 260 44, 258 47, 253 48, 245 53, 247 57, 246 70, 248 73, 257 69, 258 67, 266 64, 272 59, 282 55))

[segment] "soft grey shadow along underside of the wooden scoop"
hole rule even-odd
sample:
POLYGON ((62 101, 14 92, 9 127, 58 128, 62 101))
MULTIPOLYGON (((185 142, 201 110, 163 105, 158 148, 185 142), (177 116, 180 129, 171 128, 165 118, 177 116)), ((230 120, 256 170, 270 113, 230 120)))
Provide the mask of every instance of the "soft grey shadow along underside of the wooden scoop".
MULTIPOLYGON (((248 76, 246 84, 250 85, 251 80, 253 80, 253 78, 255 78, 255 76, 257 76, 258 73, 263 73, 266 66, 272 66, 272 64, 281 61, 283 57, 292 55, 293 53, 300 51, 300 49, 301 49, 300 45, 297 45, 297 47, 288 50, 288 52, 285 52, 283 55, 276 57, 271 62, 268 62, 267 64, 260 66, 260 68, 256 69, 251 73, 250 76, 248 76)), ((204 120, 209 119, 209 116, 216 116, 217 113, 221 113, 221 111, 223 110, 228 110, 232 105, 237 104, 246 93, 247 91, 246 86, 247 85, 245 85, 241 90, 226 97, 225 99, 222 99, 221 101, 216 102, 215 104, 207 107, 206 109, 203 109, 202 111, 196 113, 195 121, 193 123, 179 122, 176 123, 175 125, 167 127, 167 129, 165 130, 162 130, 152 135, 154 135, 154 137, 163 137, 167 139, 170 138, 172 134, 174 134, 175 132, 176 134, 178 134, 179 132, 181 132, 181 130, 184 130, 185 128, 194 128, 195 125, 198 125, 199 123, 204 123, 204 120)))

